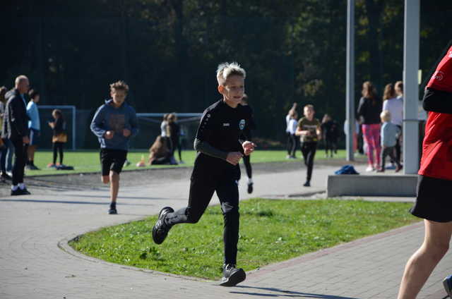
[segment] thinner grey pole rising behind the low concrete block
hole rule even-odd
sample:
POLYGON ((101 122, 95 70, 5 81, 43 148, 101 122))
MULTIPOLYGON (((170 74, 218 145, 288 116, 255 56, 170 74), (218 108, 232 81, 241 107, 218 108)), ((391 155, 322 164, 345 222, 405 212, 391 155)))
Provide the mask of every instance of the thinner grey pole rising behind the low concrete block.
POLYGON ((353 133, 355 132, 355 0, 347 1, 347 83, 346 83, 347 161, 354 161, 353 133))

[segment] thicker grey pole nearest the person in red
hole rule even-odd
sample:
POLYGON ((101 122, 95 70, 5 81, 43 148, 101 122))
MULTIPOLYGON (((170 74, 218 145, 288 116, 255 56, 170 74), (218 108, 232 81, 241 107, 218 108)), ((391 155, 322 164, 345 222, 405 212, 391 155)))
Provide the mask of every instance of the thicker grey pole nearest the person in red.
POLYGON ((403 39, 403 159, 405 174, 419 169, 419 35, 420 0, 405 0, 405 35, 403 39))

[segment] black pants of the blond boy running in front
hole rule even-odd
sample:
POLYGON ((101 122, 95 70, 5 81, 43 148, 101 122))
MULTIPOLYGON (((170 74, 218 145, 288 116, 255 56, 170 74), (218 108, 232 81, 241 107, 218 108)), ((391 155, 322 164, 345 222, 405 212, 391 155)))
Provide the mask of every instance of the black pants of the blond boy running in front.
POLYGON ((213 193, 220 198, 223 219, 225 221, 223 242, 225 246, 225 264, 237 264, 237 243, 239 242, 239 188, 236 178, 215 175, 192 177, 190 185, 189 205, 174 213, 167 214, 165 223, 195 224, 206 211, 213 193))

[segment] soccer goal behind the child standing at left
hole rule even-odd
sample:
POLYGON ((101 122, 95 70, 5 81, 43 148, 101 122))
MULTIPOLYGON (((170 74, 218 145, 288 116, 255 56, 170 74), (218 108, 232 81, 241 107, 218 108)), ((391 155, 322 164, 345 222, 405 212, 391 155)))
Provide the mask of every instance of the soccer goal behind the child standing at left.
POLYGON ((66 133, 68 135, 67 149, 76 150, 76 106, 70 105, 38 105, 41 121, 40 147, 44 149, 52 148, 53 130, 48 125, 49 121, 54 121, 52 111, 61 110, 64 121, 66 122, 66 133))

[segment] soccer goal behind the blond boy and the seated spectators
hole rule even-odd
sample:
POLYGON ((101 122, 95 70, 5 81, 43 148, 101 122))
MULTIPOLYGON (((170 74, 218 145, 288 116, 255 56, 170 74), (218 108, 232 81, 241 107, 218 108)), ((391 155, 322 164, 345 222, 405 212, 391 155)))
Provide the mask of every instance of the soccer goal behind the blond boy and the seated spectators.
MULTIPOLYGON (((165 113, 137 113, 138 126, 140 132, 135 138, 131 139, 131 148, 135 150, 148 150, 155 138, 160 135, 160 125, 165 113)), ((186 150, 193 149, 193 140, 196 135, 201 113, 178 113, 177 123, 180 126, 180 141, 182 148, 186 150)))

